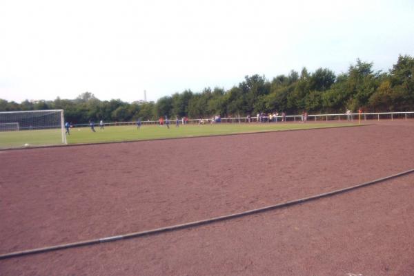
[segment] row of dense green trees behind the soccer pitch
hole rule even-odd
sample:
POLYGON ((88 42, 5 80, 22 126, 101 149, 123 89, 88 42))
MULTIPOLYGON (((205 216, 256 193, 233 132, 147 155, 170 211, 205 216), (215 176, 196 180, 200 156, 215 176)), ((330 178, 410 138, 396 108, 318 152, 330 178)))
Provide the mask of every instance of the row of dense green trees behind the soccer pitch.
POLYGON ((225 90, 207 87, 195 93, 190 89, 159 98, 156 103, 126 103, 119 99, 99 100, 85 92, 73 100, 57 98, 22 103, 0 99, 0 111, 64 109, 65 119, 72 123, 89 120, 129 121, 168 118, 206 118, 220 115, 255 116, 259 112, 344 113, 404 112, 414 110, 414 59, 400 55, 388 72, 374 71, 373 63, 357 59, 346 73, 335 75, 328 68, 308 72, 290 71, 271 81, 255 74, 225 90))

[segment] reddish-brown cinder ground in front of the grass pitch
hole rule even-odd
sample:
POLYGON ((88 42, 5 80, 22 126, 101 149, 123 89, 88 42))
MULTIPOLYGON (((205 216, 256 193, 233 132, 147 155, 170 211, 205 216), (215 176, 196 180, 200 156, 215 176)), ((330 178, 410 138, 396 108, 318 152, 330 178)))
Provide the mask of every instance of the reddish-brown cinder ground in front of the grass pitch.
MULTIPOLYGON (((414 123, 0 152, 0 254, 413 169, 414 123)), ((414 275, 414 175, 237 220, 0 260, 0 275, 414 275)))

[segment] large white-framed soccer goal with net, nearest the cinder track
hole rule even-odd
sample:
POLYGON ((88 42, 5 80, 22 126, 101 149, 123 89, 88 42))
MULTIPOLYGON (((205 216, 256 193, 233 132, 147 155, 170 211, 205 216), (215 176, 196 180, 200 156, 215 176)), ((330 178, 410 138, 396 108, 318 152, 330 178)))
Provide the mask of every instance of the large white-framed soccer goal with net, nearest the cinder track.
POLYGON ((0 149, 66 144, 63 110, 0 112, 0 149))

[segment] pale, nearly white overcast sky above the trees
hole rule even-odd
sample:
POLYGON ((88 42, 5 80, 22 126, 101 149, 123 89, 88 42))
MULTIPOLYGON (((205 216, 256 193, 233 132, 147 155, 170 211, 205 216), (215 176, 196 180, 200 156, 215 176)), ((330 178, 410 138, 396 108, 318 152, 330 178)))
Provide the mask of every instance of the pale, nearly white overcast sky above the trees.
POLYGON ((132 102, 414 56, 414 1, 0 0, 0 98, 132 102))

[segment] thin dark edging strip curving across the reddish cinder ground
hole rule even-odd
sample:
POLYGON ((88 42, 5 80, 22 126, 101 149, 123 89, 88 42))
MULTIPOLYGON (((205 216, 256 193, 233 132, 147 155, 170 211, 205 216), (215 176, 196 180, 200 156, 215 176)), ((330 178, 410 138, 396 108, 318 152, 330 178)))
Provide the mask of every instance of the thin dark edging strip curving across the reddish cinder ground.
POLYGON ((335 190, 335 191, 330 191, 328 193, 319 193, 318 195, 313 195, 313 196, 308 197, 308 198, 301 198, 299 200, 291 200, 291 201, 288 201, 288 202, 283 202, 283 203, 279 203, 279 204, 275 204, 275 205, 270 205, 270 206, 262 207, 262 208, 259 208, 259 209, 244 211, 244 212, 241 212, 241 213, 233 213, 233 214, 230 214, 230 215, 223 215, 223 216, 220 216, 220 217, 213 217, 213 218, 210 218, 208 220, 198 220, 196 222, 176 224, 176 225, 173 225, 173 226, 166 226, 166 227, 161 227, 161 228, 152 229, 152 230, 148 230, 148 231, 127 233, 127 234, 124 234, 124 235, 116 235, 116 236, 112 236, 112 237, 102 237, 100 239, 95 239, 95 240, 86 240, 86 241, 82 241, 82 242, 73 242, 73 243, 70 243, 70 244, 59 244, 59 245, 56 245, 56 246, 46 246, 46 247, 43 247, 43 248, 34 248, 34 249, 26 250, 26 251, 17 251, 17 252, 12 252, 12 253, 7 253, 7 254, 0 255, 0 259, 20 257, 20 256, 24 256, 24 255, 32 255, 32 254, 37 254, 37 253, 49 252, 49 251, 57 251, 57 250, 61 250, 61 249, 73 248, 73 247, 79 247, 79 246, 88 246, 88 245, 92 245, 92 244, 100 244, 102 242, 113 242, 113 241, 116 241, 116 240, 124 240, 124 239, 129 239, 129 238, 132 238, 132 237, 141 237, 141 236, 145 236, 145 235, 156 235, 156 234, 164 233, 164 232, 167 232, 167 231, 177 231, 179 229, 186 229, 186 228, 200 226, 200 225, 204 225, 204 224, 211 224, 211 223, 214 223, 214 222, 221 222, 221 221, 224 221, 224 220, 231 220, 231 219, 234 219, 236 217, 242 217, 242 216, 245 216, 245 215, 252 215, 252 214, 255 214, 255 213, 262 213, 262 212, 265 212, 265 211, 270 211, 270 210, 273 210, 273 209, 280 209, 280 208, 284 208, 284 207, 287 207, 287 206, 290 206, 290 205, 295 205, 295 204, 300 204, 300 203, 303 203, 303 202, 308 202, 308 201, 311 201, 311 200, 317 200, 319 198, 326 198, 328 196, 337 195, 339 193, 345 193, 345 192, 348 192, 348 191, 352 191, 354 189, 358 189, 358 188, 362 188, 362 187, 372 185, 372 184, 375 184, 375 183, 383 182, 385 180, 391 180, 393 178, 404 176, 404 175, 407 175, 408 173, 413 173, 413 172, 414 172, 414 169, 410 169, 408 171, 403 171, 402 173, 397 173, 393 176, 387 176, 385 178, 379 178, 377 180, 364 182, 362 184, 357 184, 357 185, 352 186, 352 187, 339 189, 339 190, 335 190))

